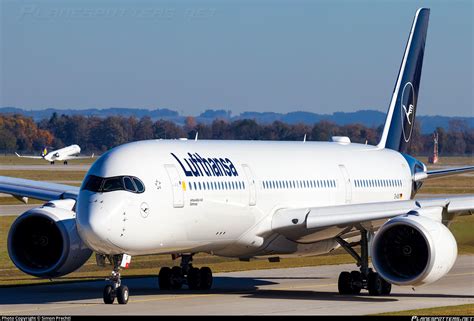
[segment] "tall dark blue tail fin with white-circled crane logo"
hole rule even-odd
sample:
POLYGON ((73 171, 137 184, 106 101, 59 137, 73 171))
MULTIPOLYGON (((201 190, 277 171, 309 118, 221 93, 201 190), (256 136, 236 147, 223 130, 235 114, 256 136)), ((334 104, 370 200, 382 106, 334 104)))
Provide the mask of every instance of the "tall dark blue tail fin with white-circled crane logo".
POLYGON ((377 145, 380 148, 405 152, 410 142, 415 124, 429 16, 430 9, 427 8, 420 8, 415 14, 382 138, 377 145))

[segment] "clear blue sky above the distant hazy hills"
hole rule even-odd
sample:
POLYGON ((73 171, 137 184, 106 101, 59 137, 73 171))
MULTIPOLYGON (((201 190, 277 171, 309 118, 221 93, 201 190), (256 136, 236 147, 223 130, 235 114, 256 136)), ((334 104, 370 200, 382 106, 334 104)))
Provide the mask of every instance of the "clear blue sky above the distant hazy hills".
POLYGON ((386 111, 425 6, 418 113, 474 116, 471 1, 0 4, 0 106, 386 111))

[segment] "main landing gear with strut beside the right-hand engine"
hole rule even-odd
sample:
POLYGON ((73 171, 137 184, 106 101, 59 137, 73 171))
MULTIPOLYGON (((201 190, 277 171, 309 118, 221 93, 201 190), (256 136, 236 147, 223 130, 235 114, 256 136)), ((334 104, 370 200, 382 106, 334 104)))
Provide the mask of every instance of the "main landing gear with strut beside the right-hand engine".
POLYGON ((359 294, 362 289, 369 291, 370 295, 389 295, 392 285, 385 281, 380 275, 369 268, 369 242, 367 231, 360 228, 360 242, 348 243, 340 237, 336 241, 344 248, 356 261, 360 271, 341 272, 339 274, 338 289, 339 294, 359 294), (360 245, 360 255, 353 249, 360 245))

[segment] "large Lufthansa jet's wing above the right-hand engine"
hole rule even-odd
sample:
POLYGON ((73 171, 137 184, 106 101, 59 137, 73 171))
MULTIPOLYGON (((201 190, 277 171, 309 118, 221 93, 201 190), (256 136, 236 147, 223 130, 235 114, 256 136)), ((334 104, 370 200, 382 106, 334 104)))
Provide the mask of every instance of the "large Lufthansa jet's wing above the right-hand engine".
POLYGON ((405 215, 412 211, 438 209, 442 221, 449 224, 458 215, 474 214, 474 195, 453 196, 420 200, 391 201, 364 204, 349 204, 328 207, 308 207, 300 209, 280 209, 272 219, 272 230, 294 234, 306 233, 312 229, 324 229, 333 226, 345 228, 361 223, 386 220, 405 215))

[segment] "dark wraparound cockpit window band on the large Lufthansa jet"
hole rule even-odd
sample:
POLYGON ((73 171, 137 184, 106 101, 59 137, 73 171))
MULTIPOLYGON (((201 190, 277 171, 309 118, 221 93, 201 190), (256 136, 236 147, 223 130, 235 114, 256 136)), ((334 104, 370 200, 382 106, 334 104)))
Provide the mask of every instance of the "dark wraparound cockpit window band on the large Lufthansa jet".
POLYGON ((89 175, 86 177, 82 189, 99 193, 112 191, 143 193, 145 191, 145 186, 139 178, 133 176, 99 177, 89 175))

